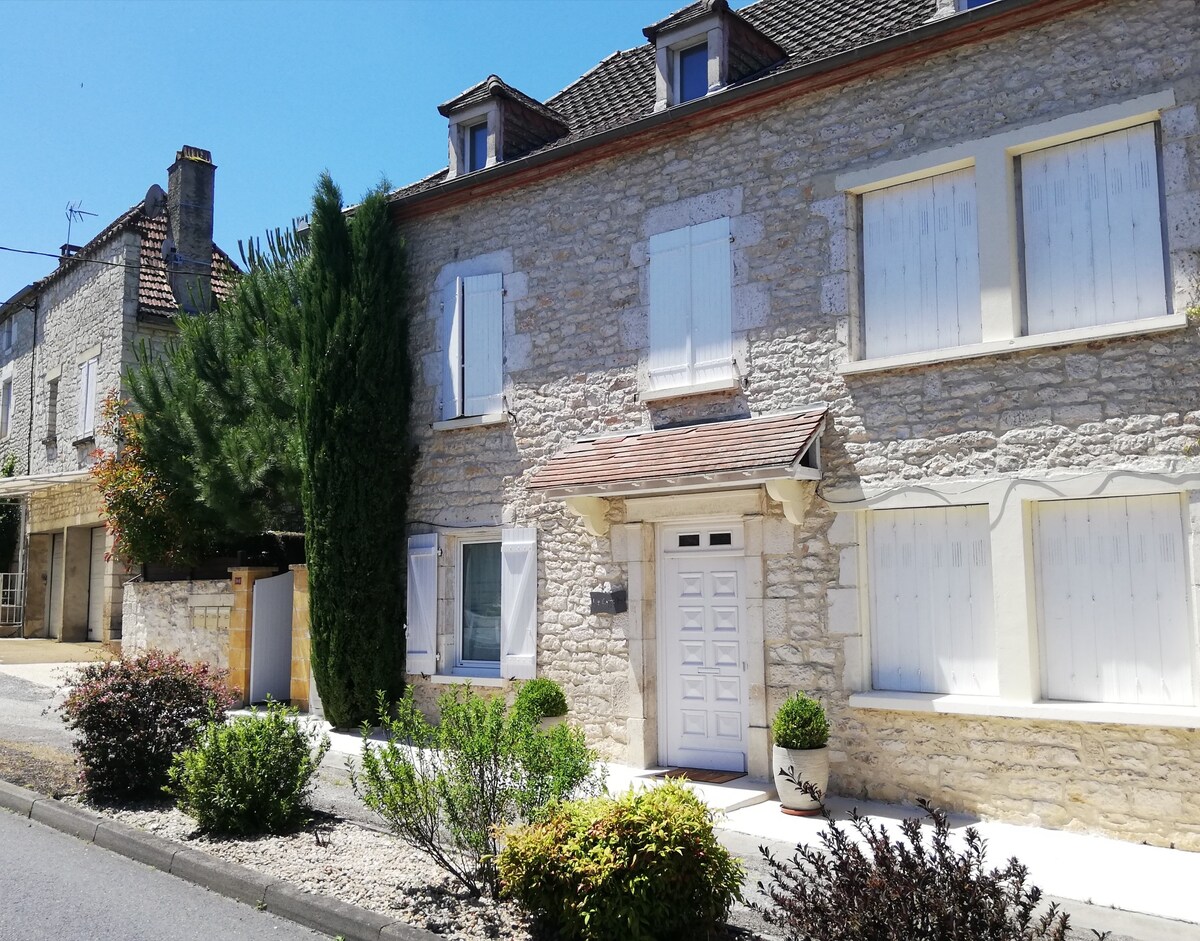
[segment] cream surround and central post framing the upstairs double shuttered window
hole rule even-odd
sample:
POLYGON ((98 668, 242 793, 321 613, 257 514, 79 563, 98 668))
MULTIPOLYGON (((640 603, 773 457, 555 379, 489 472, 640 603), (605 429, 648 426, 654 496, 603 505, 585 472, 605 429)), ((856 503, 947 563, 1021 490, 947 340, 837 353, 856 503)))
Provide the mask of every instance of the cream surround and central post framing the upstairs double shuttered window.
MULTIPOLYGON (((1096 140, 1102 136, 1129 131, 1140 125, 1154 127, 1153 122, 1158 121, 1162 110, 1174 106, 1175 92, 1169 89, 1052 121, 1006 130, 979 140, 942 148, 865 170, 840 174, 835 179, 838 188, 866 200, 866 196, 876 191, 973 168, 979 241, 979 334, 977 341, 967 337, 960 340, 958 344, 938 349, 882 354, 872 352, 869 337, 860 336, 853 344, 852 360, 841 365, 839 371, 842 374, 853 374, 1184 326, 1187 323, 1184 314, 1172 312, 1182 311, 1180 292, 1183 288, 1174 286, 1177 296, 1168 296, 1170 288, 1164 277, 1163 287, 1158 289, 1158 296, 1154 299, 1157 310, 1156 302, 1146 300, 1144 304, 1140 300, 1142 294, 1148 296, 1148 284, 1145 288, 1139 286, 1138 306, 1129 307, 1122 302, 1121 312, 1114 314, 1121 319, 1111 317, 1104 319, 1090 314, 1076 320, 1074 325, 1069 320, 1058 319, 1050 329, 1033 332, 1025 323, 1027 305, 1022 281, 1024 205, 1020 170, 1022 164, 1027 169, 1045 160, 1045 156, 1026 155, 1033 155, 1036 151, 1045 154, 1061 145, 1086 140, 1092 143, 1084 144, 1084 148, 1100 146, 1096 140)), ((1135 132, 1134 137, 1148 132, 1135 132)), ((1145 164, 1145 160, 1138 155, 1135 157, 1136 169, 1145 164)), ((1154 186, 1158 187, 1157 175, 1154 186)), ((1159 216, 1156 215, 1154 222, 1162 227, 1159 216)), ((1162 254, 1160 248, 1159 251, 1162 254)), ((1139 247, 1139 258, 1148 258, 1150 254, 1150 247, 1139 247)), ((1139 270, 1144 270, 1140 262, 1139 270)), ((864 271, 865 274, 868 272, 864 271)), ((1033 288, 1036 295, 1037 283, 1033 288)), ((1128 293, 1122 296, 1128 296, 1128 293)), ((1044 324, 1034 317, 1032 326, 1040 329, 1044 324)))

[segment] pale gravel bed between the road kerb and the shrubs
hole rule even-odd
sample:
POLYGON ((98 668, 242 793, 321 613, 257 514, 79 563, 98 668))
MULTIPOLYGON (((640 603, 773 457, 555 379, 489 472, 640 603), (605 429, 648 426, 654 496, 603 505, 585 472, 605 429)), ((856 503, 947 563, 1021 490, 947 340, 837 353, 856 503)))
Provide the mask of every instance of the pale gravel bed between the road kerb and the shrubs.
POLYGON ((91 809, 451 941, 532 937, 527 917, 514 904, 470 898, 406 843, 358 823, 322 815, 287 835, 217 839, 198 833, 194 820, 167 803, 91 809))

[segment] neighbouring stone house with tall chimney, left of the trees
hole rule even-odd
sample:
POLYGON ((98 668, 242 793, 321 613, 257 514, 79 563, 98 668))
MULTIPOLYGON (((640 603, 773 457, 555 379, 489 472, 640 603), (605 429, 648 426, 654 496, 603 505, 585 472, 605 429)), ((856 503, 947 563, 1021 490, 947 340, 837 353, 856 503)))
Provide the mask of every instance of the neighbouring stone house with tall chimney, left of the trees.
POLYGON ((0 305, 0 455, 18 474, 0 497, 23 501, 25 544, 4 583, 7 630, 26 637, 116 641, 121 586, 100 497, 95 450, 109 392, 143 343, 175 331, 180 310, 206 311, 229 258, 212 244, 216 167, 185 146, 168 187, 139 202, 84 246, 64 245, 58 268, 0 305))

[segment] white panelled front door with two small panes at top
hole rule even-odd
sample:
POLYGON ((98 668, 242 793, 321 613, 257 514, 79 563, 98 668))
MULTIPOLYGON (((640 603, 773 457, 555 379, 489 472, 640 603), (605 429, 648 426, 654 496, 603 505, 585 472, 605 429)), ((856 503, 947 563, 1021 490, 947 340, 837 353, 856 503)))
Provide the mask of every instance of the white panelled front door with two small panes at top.
POLYGON ((659 531, 659 736, 665 765, 746 769, 740 523, 659 531))

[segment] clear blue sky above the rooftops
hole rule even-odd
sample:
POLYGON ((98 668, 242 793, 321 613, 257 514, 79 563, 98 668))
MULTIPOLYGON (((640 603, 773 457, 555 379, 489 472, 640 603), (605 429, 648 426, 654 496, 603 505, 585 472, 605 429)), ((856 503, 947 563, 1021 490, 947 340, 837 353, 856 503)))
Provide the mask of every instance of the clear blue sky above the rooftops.
MULTIPOLYGON (((0 246, 83 244, 167 185, 182 144, 217 164, 216 241, 445 166, 437 106, 488 73, 545 100, 683 0, 0 2, 0 246)), ((740 4, 737 4, 740 5, 740 4)), ((0 251, 0 300, 50 258, 0 251)))

